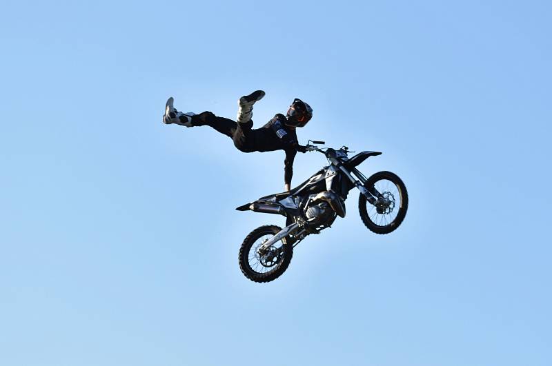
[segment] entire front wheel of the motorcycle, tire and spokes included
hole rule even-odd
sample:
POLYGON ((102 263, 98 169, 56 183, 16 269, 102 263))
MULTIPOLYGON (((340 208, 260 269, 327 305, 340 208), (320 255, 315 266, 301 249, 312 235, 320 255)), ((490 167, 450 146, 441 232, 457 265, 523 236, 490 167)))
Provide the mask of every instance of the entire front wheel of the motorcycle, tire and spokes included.
POLYGON ((364 194, 360 194, 358 208, 362 222, 371 232, 389 234, 399 227, 406 216, 406 186, 397 174, 377 172, 368 178, 364 187, 375 199, 370 203, 364 194))

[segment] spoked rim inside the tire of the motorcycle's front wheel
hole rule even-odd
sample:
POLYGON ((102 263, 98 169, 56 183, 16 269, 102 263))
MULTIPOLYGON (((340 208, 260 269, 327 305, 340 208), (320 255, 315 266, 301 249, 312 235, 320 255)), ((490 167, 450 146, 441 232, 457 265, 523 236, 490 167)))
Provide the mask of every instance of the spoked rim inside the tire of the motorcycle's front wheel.
POLYGON ((391 225, 402 207, 401 189, 399 185, 388 179, 376 181, 374 188, 380 192, 380 197, 373 205, 366 201, 368 218, 377 226, 391 225))

